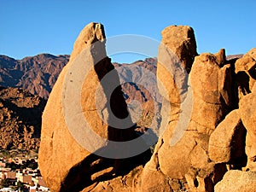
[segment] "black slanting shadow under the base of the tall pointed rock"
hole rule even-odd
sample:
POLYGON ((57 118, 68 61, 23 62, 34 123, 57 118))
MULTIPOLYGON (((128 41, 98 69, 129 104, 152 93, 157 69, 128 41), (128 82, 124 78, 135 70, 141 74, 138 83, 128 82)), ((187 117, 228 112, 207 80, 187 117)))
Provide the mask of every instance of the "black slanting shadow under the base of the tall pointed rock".
MULTIPOLYGON (((99 150, 104 150, 101 148, 99 150)), ((114 177, 125 176, 139 165, 145 165, 150 159, 150 150, 135 157, 114 160, 90 154, 78 165, 68 172, 65 181, 61 184, 61 192, 79 192, 93 183, 110 180, 114 177), (94 179, 91 177, 97 172, 102 172, 113 167, 112 171, 99 174, 94 179)))

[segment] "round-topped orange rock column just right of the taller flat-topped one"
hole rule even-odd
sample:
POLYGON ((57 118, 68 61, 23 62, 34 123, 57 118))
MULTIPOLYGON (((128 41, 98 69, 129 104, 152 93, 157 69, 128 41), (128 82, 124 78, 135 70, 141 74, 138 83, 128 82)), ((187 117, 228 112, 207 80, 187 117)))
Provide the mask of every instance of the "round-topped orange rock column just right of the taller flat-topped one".
POLYGON ((202 134, 210 135, 224 118, 231 103, 231 69, 225 65, 224 49, 218 54, 195 57, 189 79, 193 90, 191 119, 202 134))

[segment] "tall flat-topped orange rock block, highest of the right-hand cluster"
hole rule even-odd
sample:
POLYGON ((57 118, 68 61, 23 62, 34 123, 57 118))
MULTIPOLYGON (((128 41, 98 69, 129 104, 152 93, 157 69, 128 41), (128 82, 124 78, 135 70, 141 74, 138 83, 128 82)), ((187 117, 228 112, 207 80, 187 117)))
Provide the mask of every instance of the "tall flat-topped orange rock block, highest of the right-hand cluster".
POLYGON ((187 74, 197 55, 194 31, 189 26, 168 26, 161 33, 158 88, 167 101, 180 103, 188 88, 187 74))

